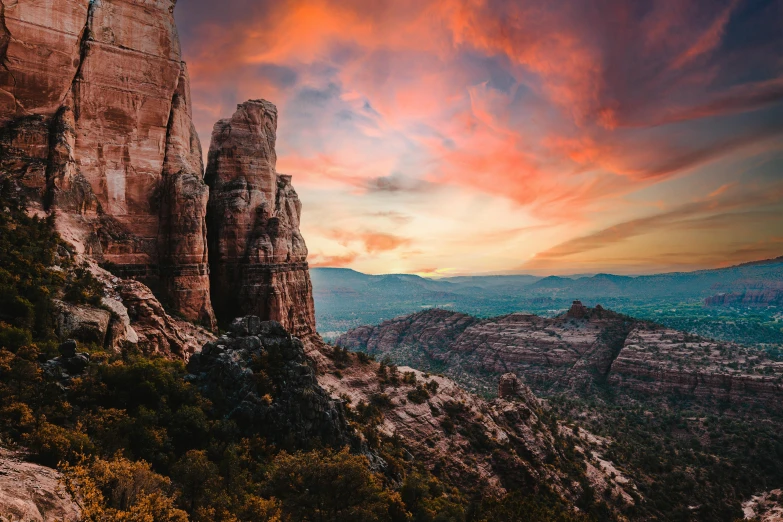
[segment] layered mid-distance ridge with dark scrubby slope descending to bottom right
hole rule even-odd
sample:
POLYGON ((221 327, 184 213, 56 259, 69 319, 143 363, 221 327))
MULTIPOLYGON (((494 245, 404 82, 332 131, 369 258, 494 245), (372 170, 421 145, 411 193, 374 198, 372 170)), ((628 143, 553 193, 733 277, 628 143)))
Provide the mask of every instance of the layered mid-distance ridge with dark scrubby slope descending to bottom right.
POLYGON ((732 521, 783 481, 783 363, 754 348, 578 303, 553 318, 427 310, 337 344, 488 397, 516 374, 588 442, 607 441, 595 451, 644 498, 631 519, 732 521))

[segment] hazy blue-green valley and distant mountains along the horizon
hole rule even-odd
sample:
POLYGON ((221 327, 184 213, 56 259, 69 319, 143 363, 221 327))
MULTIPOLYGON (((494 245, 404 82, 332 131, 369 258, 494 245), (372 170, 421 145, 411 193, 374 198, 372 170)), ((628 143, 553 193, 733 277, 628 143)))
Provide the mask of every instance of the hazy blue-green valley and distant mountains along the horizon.
POLYGON ((783 344, 783 325, 776 323, 783 311, 783 257, 641 276, 428 279, 411 274, 368 275, 344 268, 314 268, 311 276, 318 330, 327 338, 427 308, 476 317, 514 312, 553 316, 580 299, 590 306, 602 304, 711 337, 783 344))

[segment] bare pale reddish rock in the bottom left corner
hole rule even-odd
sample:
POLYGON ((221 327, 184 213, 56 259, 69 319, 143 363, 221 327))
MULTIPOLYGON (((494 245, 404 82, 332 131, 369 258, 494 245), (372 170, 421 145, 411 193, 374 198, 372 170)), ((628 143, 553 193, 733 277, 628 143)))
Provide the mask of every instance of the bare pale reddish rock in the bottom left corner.
POLYGON ((0 520, 76 522, 78 504, 62 490, 60 474, 24 462, 23 455, 0 448, 0 520))

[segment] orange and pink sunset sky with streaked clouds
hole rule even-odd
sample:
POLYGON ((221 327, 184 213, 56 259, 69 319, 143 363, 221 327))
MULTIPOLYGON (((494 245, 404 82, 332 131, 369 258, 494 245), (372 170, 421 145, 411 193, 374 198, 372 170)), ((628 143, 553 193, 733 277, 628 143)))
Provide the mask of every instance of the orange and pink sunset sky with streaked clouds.
POLYGON ((188 0, 205 150, 278 107, 312 266, 622 274, 783 255, 783 0, 188 0))

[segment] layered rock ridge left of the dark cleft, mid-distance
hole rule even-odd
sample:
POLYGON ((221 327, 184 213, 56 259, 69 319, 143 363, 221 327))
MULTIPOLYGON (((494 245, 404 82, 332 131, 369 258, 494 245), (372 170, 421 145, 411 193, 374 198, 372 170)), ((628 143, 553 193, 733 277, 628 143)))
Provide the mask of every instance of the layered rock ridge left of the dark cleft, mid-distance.
POLYGON ((605 379, 625 339, 626 321, 608 311, 593 310, 589 315, 547 319, 511 314, 479 320, 427 310, 357 328, 336 343, 370 354, 400 356, 418 367, 434 363, 482 393, 496 393, 498 378, 507 372, 524 376, 537 390, 545 391, 605 379))

